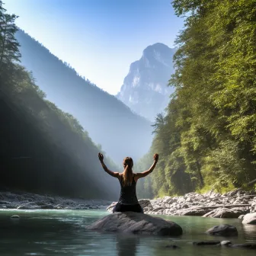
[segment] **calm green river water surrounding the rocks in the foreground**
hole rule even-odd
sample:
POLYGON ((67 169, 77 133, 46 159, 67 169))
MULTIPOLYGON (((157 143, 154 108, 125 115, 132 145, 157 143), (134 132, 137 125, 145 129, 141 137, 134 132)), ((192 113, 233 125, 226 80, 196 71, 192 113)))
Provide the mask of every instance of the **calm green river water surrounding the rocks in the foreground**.
POLYGON ((101 234, 85 226, 106 216, 103 210, 0 210, 0 255, 103 255, 103 256, 252 256, 255 250, 195 246, 192 242, 230 240, 256 242, 256 226, 243 226, 240 219, 211 219, 190 216, 161 216, 184 230, 179 238, 101 234), (10 219, 18 214, 21 219, 10 219), (221 223, 238 229, 238 238, 216 238, 204 232, 221 223), (178 249, 166 248, 178 245, 178 249))

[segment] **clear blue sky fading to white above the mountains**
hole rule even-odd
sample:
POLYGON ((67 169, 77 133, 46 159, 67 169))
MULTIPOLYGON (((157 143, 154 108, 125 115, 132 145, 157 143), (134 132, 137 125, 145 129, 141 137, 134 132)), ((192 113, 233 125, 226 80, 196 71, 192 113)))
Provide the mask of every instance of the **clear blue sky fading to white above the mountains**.
POLYGON ((171 0, 3 0, 18 27, 110 94, 154 43, 174 47, 183 19, 171 0))

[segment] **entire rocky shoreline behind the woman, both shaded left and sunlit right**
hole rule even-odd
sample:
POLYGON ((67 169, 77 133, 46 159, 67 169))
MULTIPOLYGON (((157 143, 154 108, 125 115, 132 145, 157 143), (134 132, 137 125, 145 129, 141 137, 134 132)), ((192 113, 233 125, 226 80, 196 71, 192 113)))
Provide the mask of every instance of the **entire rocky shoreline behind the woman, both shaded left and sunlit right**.
MULTIPOLYGON (((110 200, 85 200, 0 191, 0 210, 106 210, 112 212, 117 202, 110 200)), ((240 218, 256 213, 256 191, 231 191, 226 194, 192 192, 180 197, 165 196, 140 199, 144 213, 167 216, 203 216, 214 218, 240 218)))

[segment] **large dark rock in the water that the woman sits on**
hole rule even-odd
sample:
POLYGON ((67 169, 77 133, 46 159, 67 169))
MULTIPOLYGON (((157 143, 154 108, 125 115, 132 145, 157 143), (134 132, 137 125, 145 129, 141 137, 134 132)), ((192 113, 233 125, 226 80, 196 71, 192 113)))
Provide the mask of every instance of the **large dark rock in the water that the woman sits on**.
POLYGON ((112 213, 94 222, 87 229, 145 235, 182 235, 178 224, 143 213, 112 213))

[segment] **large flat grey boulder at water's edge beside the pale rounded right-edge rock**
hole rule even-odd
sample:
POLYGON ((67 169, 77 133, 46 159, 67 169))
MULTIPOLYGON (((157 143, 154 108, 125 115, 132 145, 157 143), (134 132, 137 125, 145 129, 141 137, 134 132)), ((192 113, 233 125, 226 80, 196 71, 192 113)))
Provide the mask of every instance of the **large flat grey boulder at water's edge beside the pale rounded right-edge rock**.
POLYGON ((243 208, 217 208, 209 213, 203 215, 203 217, 211 217, 211 218, 238 218, 238 216, 249 213, 249 210, 245 207, 243 208))

